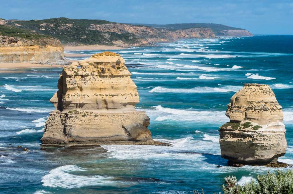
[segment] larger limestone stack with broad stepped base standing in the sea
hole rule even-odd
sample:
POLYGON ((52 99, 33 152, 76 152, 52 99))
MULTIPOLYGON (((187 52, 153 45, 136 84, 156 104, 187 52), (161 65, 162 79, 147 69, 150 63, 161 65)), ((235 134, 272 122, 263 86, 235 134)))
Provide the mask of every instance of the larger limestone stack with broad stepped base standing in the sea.
POLYGON ((135 110, 137 87, 124 63, 103 52, 64 66, 42 145, 167 145, 152 140, 149 117, 135 110))

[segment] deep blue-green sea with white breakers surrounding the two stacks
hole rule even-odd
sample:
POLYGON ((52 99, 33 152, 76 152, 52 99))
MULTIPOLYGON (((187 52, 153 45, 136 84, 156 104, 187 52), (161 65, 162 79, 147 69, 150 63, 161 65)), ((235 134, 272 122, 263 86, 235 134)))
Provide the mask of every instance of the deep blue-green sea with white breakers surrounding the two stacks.
POLYGON ((1 73, 0 193, 213 193, 225 176, 241 183, 276 170, 230 167, 220 156, 217 130, 243 83, 273 88, 287 129, 287 153, 279 160, 293 164, 293 36, 188 39, 116 52, 132 72, 137 109, 151 118, 153 138, 172 146, 42 147, 62 68, 1 73))

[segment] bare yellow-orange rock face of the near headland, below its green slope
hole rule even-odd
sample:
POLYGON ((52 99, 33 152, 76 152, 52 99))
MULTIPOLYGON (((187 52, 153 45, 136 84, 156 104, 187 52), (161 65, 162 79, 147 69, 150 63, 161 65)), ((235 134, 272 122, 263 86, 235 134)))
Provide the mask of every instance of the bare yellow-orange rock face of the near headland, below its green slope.
POLYGON ((55 39, 35 41, 0 35, 0 63, 52 64, 64 58, 63 51, 55 39))

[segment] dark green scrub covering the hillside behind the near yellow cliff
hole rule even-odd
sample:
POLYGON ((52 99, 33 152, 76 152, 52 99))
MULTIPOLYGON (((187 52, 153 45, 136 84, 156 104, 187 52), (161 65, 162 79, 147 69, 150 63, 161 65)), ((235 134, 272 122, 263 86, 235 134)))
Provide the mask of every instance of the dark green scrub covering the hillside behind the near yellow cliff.
POLYGON ((63 44, 105 44, 113 45, 113 41, 124 40, 130 44, 137 39, 130 33, 117 34, 115 32, 100 32, 89 30, 91 24, 113 23, 106 20, 87 20, 52 18, 45 20, 18 20, 8 21, 8 25, 17 25, 19 28, 33 30, 43 35, 56 37, 63 44))

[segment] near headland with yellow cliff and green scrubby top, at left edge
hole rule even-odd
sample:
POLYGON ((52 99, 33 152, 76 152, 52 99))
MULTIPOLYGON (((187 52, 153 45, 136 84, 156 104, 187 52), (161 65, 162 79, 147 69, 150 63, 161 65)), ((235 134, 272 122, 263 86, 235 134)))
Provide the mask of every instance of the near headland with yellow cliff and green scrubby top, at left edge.
POLYGON ((53 37, 0 25, 0 63, 55 64, 64 58, 63 51, 53 37))

